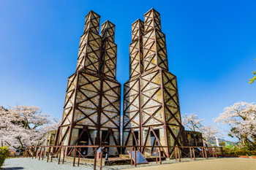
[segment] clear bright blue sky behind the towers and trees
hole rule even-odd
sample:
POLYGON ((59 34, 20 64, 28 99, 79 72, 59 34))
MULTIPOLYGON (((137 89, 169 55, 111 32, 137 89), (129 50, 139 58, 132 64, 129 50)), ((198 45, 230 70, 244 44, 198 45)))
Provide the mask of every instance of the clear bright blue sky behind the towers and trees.
POLYGON ((211 124, 226 106, 254 102, 256 1, 0 1, 0 105, 28 104, 61 119, 67 77, 92 9, 116 24, 117 80, 129 77, 131 24, 161 14, 181 114, 211 124))

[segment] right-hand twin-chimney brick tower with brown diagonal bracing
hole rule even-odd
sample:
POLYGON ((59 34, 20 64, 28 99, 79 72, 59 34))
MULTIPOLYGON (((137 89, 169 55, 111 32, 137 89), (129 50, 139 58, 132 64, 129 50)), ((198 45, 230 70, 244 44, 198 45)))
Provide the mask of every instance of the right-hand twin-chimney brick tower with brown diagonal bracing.
MULTIPOLYGON (((124 146, 187 146, 177 78, 168 71, 165 34, 155 9, 146 12, 144 22, 138 19, 132 23, 123 112, 124 146)), ((153 155, 156 147, 147 148, 148 155, 153 155)), ((174 150, 162 151, 169 156, 174 150)))

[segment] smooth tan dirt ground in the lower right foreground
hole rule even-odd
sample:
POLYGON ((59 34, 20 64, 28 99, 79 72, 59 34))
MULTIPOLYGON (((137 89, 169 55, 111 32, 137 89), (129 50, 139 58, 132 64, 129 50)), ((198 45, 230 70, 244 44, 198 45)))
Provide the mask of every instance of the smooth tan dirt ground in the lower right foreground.
POLYGON ((170 163, 157 166, 137 167, 129 170, 256 170, 256 159, 252 158, 219 158, 205 161, 170 163))

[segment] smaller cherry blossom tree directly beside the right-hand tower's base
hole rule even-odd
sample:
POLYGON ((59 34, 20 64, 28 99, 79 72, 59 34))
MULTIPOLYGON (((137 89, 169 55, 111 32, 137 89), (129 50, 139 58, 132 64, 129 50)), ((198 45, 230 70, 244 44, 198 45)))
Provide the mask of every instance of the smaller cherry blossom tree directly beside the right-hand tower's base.
POLYGON ((185 114, 182 116, 182 124, 189 128, 191 131, 200 131, 203 135, 203 140, 206 143, 208 139, 220 136, 219 128, 215 125, 203 125, 195 113, 190 115, 185 114))

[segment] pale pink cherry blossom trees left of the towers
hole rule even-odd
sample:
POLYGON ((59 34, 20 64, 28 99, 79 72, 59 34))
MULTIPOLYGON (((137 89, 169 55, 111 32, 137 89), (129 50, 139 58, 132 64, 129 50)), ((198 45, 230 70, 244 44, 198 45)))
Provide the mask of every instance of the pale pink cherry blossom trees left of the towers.
POLYGON ((39 107, 0 107, 0 144, 10 149, 41 145, 44 134, 59 127, 59 120, 43 114, 39 107))

